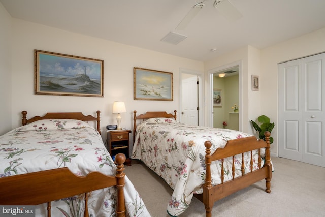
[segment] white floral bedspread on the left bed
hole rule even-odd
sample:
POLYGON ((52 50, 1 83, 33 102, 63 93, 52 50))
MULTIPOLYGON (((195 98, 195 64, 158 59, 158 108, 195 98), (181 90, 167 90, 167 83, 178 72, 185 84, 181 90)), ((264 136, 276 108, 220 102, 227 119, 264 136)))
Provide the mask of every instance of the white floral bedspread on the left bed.
MULTIPOLYGON (((68 167, 79 176, 91 171, 115 175, 116 166, 100 134, 80 120, 40 120, 0 136, 0 178, 68 167)), ((117 190, 89 194, 89 216, 115 216, 117 190)), ((129 216, 150 216, 133 184, 125 176, 124 198, 129 216)), ((83 216, 84 195, 53 201, 52 216, 83 216)), ((46 204, 36 207, 46 216, 46 204)))

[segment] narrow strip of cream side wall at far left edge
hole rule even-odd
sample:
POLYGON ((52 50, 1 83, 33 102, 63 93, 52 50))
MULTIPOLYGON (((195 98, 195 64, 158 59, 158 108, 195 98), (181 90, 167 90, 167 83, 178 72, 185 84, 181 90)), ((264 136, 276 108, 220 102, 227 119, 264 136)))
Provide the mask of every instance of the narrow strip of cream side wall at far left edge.
POLYGON ((11 125, 11 17, 0 4, 0 135, 11 125))

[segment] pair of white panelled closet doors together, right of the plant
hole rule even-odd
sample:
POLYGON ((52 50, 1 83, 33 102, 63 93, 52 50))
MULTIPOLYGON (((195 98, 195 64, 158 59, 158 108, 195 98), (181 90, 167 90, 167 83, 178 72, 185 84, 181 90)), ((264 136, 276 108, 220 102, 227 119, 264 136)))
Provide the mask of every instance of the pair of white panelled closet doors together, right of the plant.
POLYGON ((325 167, 325 54, 279 64, 279 156, 325 167))

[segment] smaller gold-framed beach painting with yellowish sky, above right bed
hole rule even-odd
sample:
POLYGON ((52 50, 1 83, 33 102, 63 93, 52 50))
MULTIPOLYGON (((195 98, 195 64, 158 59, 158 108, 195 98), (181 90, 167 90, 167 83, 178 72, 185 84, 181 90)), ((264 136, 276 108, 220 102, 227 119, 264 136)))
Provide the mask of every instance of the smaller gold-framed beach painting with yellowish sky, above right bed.
POLYGON ((173 73, 134 67, 135 100, 173 100, 173 73))

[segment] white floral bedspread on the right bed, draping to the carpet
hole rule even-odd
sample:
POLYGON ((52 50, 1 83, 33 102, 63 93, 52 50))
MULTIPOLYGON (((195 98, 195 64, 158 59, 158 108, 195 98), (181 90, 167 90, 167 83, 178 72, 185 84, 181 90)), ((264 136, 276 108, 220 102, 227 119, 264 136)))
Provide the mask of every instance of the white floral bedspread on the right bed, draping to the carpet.
MULTIPOLYGON (((193 193, 202 194, 206 166, 204 142, 211 152, 231 139, 251 136, 229 129, 188 126, 171 118, 150 118, 137 126, 132 158, 143 161, 174 190, 167 211, 178 216, 189 206, 193 193)), ((265 150, 261 149, 261 154, 265 150)), ((232 179, 232 158, 224 160, 224 182, 232 179)), ((235 177, 241 175, 241 154, 235 160, 235 177)), ((253 151, 253 170, 258 169, 258 150, 253 151)), ((262 161, 263 162, 263 161, 262 161)), ((245 173, 250 172, 250 152, 244 154, 245 173)), ((212 184, 221 183, 221 161, 211 164, 212 184)))

